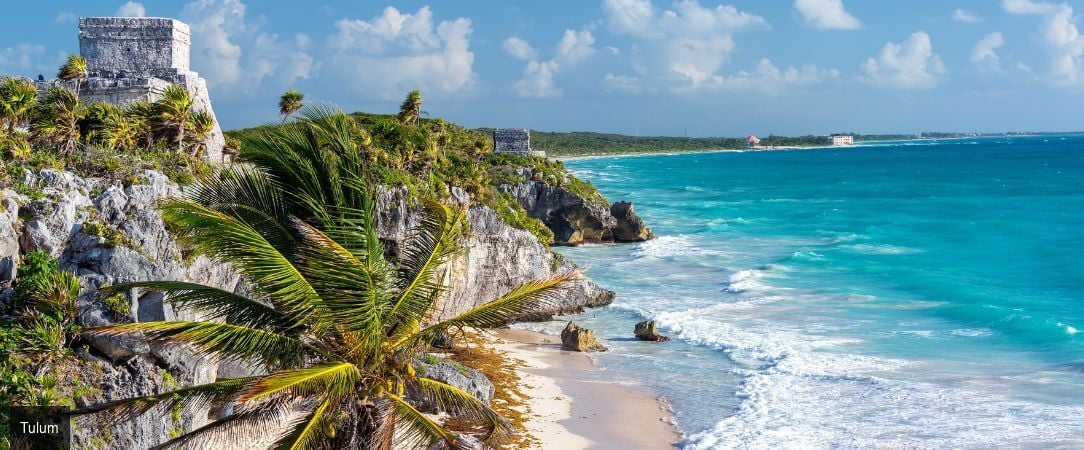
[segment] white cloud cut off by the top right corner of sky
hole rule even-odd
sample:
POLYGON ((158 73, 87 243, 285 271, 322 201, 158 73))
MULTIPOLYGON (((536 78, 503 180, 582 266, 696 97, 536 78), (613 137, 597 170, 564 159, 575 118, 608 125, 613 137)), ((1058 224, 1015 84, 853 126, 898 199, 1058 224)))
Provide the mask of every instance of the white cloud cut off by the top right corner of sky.
POLYGON ((1049 78, 1060 86, 1084 86, 1084 36, 1076 27, 1076 16, 1068 3, 1030 0, 1004 0, 1002 7, 1012 14, 1043 15, 1043 43, 1050 54, 1049 78))

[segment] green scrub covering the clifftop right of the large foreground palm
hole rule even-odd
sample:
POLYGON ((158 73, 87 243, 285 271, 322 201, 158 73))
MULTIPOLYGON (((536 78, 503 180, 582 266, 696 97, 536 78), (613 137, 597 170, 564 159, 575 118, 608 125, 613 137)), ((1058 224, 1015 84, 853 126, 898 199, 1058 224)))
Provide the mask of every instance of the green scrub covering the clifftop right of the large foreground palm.
MULTIPOLYGON (((490 134, 443 119, 418 118, 417 125, 400 121, 395 115, 353 113, 362 147, 369 159, 370 179, 377 184, 405 188, 413 198, 443 200, 451 188, 470 194, 473 201, 492 207, 512 227, 526 230, 543 244, 553 242, 553 233, 508 195, 502 184, 532 179, 568 189, 591 203, 608 202, 590 182, 565 170, 557 160, 493 153, 490 134), (526 168, 526 170, 524 170, 526 168)), ((244 141, 248 133, 270 128, 296 126, 294 123, 266 125, 227 131, 227 137, 244 141)), ((240 159, 244 159, 241 149, 240 159)))

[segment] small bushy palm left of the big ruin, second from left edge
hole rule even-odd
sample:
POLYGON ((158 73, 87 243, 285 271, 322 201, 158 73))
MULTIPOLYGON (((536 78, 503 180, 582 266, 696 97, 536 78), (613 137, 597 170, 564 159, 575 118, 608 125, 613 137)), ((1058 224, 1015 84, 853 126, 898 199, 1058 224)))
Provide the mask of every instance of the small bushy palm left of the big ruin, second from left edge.
POLYGON ((30 120, 30 139, 66 155, 79 144, 82 116, 83 108, 75 92, 60 86, 49 88, 30 120))

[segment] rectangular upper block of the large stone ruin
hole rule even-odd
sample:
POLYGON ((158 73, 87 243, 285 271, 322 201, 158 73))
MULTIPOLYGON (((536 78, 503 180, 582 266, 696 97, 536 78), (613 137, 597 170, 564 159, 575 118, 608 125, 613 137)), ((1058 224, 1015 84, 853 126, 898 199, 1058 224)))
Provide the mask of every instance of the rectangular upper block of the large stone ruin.
POLYGON ((192 36, 172 18, 82 17, 79 54, 99 70, 144 74, 156 68, 189 72, 192 36))

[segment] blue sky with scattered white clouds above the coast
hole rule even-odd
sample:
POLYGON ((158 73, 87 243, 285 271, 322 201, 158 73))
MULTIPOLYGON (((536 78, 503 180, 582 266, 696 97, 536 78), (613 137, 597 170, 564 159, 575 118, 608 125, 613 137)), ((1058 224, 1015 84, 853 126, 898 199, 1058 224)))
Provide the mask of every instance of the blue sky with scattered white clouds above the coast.
POLYGON ((224 128, 307 103, 636 136, 1084 130, 1082 1, 12 2, 0 74, 52 76, 80 16, 175 17, 224 128))

